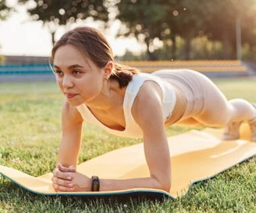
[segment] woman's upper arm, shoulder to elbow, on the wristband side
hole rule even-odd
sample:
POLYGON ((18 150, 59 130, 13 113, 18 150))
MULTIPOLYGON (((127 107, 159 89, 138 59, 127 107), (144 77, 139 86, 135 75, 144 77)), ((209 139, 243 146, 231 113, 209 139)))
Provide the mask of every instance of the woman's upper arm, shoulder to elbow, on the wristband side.
POLYGON ((154 188, 170 190, 170 152, 162 111, 162 91, 156 83, 143 84, 133 108, 133 118, 143 130, 144 152, 154 188))

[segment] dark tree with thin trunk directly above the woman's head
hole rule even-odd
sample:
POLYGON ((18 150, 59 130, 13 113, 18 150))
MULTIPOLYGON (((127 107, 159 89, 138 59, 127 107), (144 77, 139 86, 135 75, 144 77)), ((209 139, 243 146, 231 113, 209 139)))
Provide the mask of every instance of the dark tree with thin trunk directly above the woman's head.
MULTIPOLYGON (((41 20, 49 27, 52 42, 55 44, 55 32, 58 26, 67 26, 77 20, 92 17, 94 20, 108 21, 108 3, 99 0, 33 0, 35 7, 28 9, 34 20, 41 20)), ((26 0, 19 0, 26 3, 26 0)))

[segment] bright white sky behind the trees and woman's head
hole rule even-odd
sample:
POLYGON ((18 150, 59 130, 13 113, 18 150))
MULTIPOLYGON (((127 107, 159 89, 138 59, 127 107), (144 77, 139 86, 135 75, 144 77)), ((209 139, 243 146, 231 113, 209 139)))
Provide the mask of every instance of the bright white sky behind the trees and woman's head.
MULTIPOLYGON (((17 0, 7 0, 9 6, 17 5, 17 0)), ((32 22, 26 13, 26 7, 16 7, 17 12, 12 13, 7 20, 0 21, 0 54, 22 55, 22 56, 50 56, 51 54, 51 34, 42 22, 32 22)), ((92 26, 98 28, 96 22, 92 20, 76 26, 92 26)), ((113 48, 115 56, 121 56, 125 50, 138 53, 143 46, 138 44, 135 38, 115 38, 115 34, 120 26, 120 22, 114 22, 106 37, 113 48)), ((65 28, 57 30, 57 40, 65 33, 65 28)))

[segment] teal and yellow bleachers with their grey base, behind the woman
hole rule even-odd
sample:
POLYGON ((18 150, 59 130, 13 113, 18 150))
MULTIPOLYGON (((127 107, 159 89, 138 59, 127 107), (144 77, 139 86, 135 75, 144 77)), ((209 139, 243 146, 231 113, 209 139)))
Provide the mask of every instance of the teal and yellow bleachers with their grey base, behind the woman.
MULTIPOLYGON (((207 77, 247 76, 247 66, 240 60, 159 60, 123 61, 124 65, 136 67, 143 73, 160 69, 193 69, 207 77)), ((49 64, 0 65, 0 82, 7 81, 55 81, 49 64)))

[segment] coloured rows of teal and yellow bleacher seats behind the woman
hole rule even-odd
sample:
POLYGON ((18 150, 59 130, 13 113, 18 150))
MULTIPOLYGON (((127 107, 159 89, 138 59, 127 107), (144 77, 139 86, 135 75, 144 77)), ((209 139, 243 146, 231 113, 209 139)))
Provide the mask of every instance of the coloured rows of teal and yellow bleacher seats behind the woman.
MULTIPOLYGON (((236 73, 246 75, 247 67, 240 60, 158 60, 123 61, 123 65, 136 67, 145 73, 159 69, 193 69, 200 73, 236 73)), ((53 74, 49 64, 0 65, 0 75, 53 74)))

